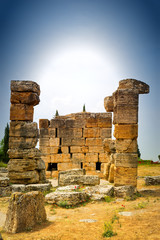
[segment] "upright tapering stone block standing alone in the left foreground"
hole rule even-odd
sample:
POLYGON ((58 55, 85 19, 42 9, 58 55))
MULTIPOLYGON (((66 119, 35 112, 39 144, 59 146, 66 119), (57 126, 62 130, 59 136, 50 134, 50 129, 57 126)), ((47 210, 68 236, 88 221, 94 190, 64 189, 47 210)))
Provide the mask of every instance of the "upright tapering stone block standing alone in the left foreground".
POLYGON ((44 221, 46 221, 46 212, 44 196, 41 192, 12 194, 4 226, 7 232, 27 231, 44 221))

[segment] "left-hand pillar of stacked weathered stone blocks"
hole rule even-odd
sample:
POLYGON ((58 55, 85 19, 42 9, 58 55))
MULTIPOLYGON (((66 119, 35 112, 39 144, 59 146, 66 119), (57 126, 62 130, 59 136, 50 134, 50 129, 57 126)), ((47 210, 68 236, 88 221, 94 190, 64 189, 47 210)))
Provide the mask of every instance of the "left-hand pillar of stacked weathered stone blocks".
POLYGON ((37 123, 33 107, 39 103, 40 87, 32 81, 11 81, 9 131, 9 178, 11 183, 45 182, 45 164, 36 149, 37 123))

